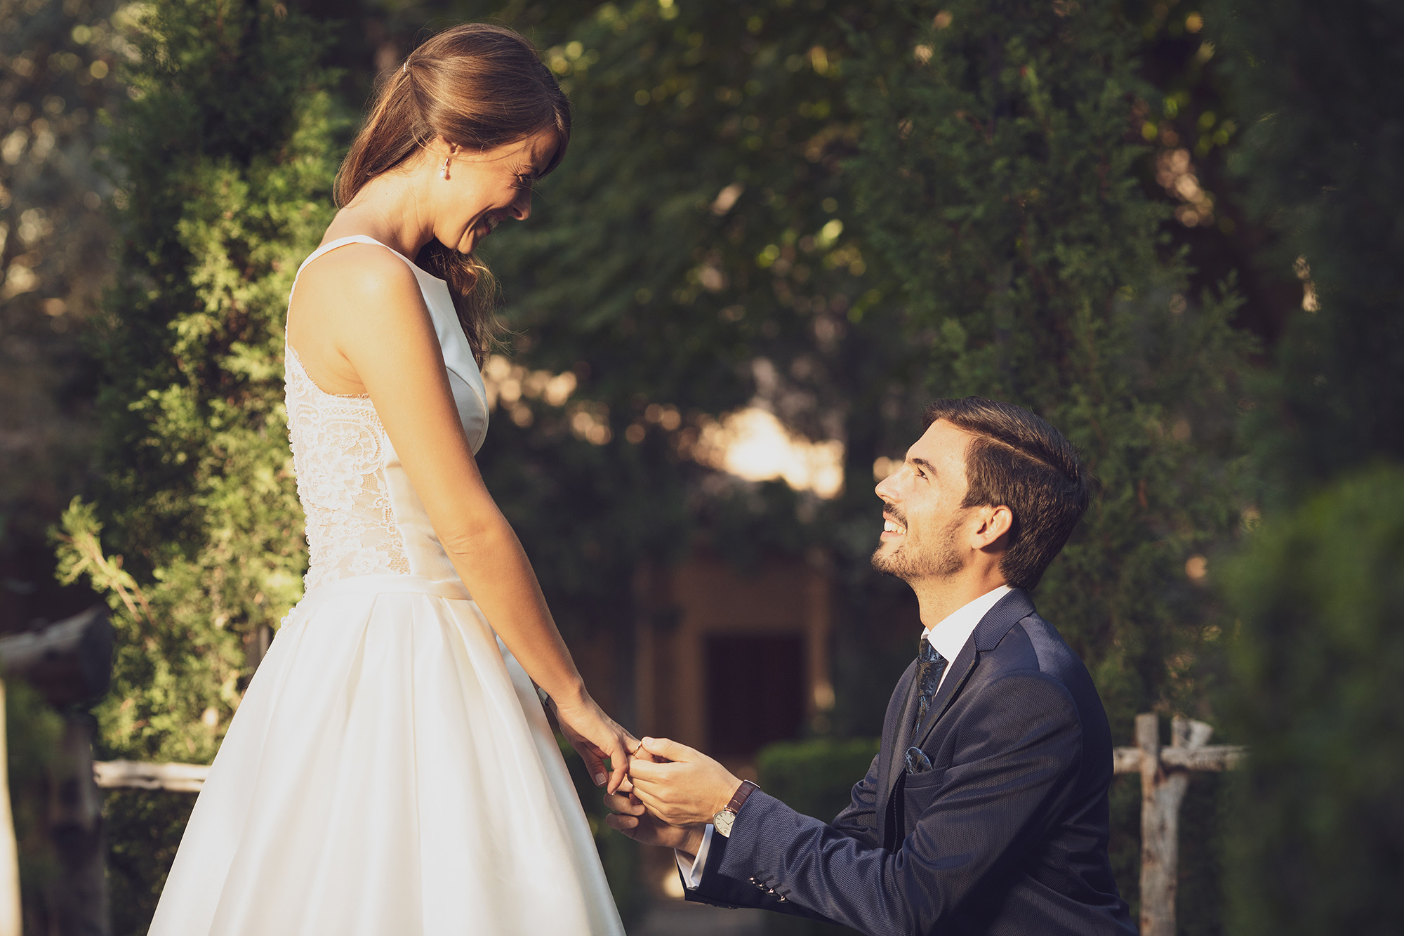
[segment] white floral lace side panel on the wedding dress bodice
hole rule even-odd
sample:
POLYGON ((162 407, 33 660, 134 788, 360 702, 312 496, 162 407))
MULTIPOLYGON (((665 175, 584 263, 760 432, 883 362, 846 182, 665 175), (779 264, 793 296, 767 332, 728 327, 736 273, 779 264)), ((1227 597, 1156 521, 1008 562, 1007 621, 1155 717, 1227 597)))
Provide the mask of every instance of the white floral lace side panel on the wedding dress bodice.
POLYGON ((292 347, 284 367, 292 467, 307 514, 306 589, 354 575, 409 575, 385 478, 385 429, 371 398, 327 394, 292 347))

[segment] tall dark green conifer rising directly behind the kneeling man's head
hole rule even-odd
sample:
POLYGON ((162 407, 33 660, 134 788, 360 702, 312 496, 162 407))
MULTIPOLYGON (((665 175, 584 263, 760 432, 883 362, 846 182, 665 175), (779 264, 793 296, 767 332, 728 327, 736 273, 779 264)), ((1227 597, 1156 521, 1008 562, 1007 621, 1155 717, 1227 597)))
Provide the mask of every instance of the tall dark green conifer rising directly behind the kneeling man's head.
POLYGON ((906 3, 859 35, 862 232, 901 287, 932 395, 1057 426, 1101 496, 1038 590, 1113 731, 1191 708, 1207 610, 1186 559, 1234 527, 1231 284, 1186 295, 1137 178, 1136 31, 1108 0, 906 3), (939 14, 938 14, 939 10, 939 14))

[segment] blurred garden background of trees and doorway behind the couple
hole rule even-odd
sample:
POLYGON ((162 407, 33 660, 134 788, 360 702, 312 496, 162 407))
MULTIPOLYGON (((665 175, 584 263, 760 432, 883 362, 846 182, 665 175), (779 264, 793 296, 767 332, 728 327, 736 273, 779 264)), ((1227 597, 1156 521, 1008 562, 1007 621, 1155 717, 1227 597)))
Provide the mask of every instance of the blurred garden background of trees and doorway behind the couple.
MULTIPOLYGON (((1179 932, 1404 929, 1391 0, 0 0, 0 630, 111 604, 98 758, 208 763, 300 594, 285 297, 376 77, 463 20, 574 108, 486 249, 480 462, 608 711, 837 812, 920 634, 872 486, 997 396, 1101 479, 1035 600, 1116 743, 1251 749, 1191 781, 1179 932)), ((60 731, 13 682, 27 933, 60 731)), ((722 932, 581 794, 630 932, 722 932)), ((114 932, 192 800, 107 794, 114 932)))

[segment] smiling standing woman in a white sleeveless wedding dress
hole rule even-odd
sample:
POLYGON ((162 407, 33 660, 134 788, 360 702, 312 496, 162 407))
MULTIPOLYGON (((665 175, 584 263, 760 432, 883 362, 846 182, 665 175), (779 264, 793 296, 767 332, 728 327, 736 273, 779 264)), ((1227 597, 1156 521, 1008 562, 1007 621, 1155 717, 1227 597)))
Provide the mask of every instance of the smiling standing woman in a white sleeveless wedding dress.
POLYGON ((637 739, 585 690, 473 461, 490 327, 473 252, 526 219, 569 135, 510 30, 441 32, 379 89, 289 302, 306 594, 152 936, 622 933, 536 687, 611 793, 637 739))

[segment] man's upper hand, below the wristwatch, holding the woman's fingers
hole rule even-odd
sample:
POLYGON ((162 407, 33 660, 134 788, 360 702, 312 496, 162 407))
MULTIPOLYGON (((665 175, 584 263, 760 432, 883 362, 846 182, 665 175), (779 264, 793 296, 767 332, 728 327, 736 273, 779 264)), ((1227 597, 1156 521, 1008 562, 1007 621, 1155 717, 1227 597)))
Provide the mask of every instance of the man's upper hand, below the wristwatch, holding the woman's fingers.
POLYGON ((644 738, 643 752, 665 763, 636 758, 629 765, 633 795, 668 825, 706 825, 741 786, 720 763, 675 741, 644 738))

